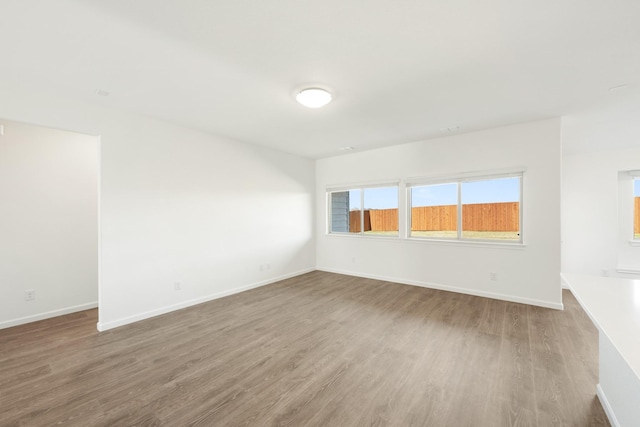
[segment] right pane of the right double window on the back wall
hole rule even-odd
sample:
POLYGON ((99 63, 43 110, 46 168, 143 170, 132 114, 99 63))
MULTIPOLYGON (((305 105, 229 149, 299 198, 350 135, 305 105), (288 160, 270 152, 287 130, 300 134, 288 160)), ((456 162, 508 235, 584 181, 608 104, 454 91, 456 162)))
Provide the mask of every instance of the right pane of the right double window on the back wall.
POLYGON ((461 183, 462 237, 520 240, 520 177, 461 183))

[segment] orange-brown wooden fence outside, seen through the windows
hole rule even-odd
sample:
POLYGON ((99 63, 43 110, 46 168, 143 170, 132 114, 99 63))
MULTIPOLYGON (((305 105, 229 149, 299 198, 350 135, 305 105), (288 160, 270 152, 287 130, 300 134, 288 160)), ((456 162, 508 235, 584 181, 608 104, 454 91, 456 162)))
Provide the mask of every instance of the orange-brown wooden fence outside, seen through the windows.
MULTIPOLYGON (((639 198, 640 199, 640 198, 639 198)), ((636 199, 636 214, 638 212, 636 199)), ((411 209, 411 230, 455 230, 458 223, 456 205, 422 206, 411 209)), ((462 229, 465 231, 518 231, 520 203, 478 203, 462 206, 462 229)), ((636 228, 638 220, 636 219, 636 228)), ((349 213, 349 231, 360 232, 360 211, 349 213)), ((364 231, 398 231, 398 209, 364 211, 364 231)), ((636 231, 637 233, 637 231, 636 231)))

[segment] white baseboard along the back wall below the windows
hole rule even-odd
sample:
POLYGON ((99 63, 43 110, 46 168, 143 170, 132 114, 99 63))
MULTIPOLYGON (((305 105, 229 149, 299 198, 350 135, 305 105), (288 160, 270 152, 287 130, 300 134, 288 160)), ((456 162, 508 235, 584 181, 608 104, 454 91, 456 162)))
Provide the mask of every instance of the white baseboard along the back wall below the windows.
POLYGON ((492 298, 492 299, 498 299, 498 300, 509 301, 509 302, 517 302, 520 304, 535 305, 538 307, 553 308, 555 310, 564 310, 564 305, 562 303, 555 303, 551 301, 542 301, 542 300, 537 300, 532 298, 522 298, 518 296, 504 295, 504 294, 499 294, 494 292, 484 292, 484 291, 478 291, 476 289, 457 288, 454 286, 440 285, 437 283, 429 283, 429 282, 420 282, 417 280, 399 279, 397 277, 385 277, 385 276, 378 276, 375 274, 364 274, 359 272, 356 273, 353 271, 336 270, 333 268, 317 267, 316 270, 326 271, 328 273, 345 274, 347 276, 364 277, 367 279, 383 280, 385 282, 401 283, 403 285, 420 286, 421 288, 438 289, 441 291, 448 291, 448 292, 457 292, 459 294, 474 295, 477 297, 492 298))

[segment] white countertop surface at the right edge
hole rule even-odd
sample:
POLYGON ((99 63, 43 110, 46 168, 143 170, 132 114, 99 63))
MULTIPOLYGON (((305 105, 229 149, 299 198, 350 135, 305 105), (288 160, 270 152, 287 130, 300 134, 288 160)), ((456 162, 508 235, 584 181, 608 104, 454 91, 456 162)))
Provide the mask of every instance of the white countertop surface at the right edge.
POLYGON ((582 308, 640 379, 640 280, 562 274, 582 308))

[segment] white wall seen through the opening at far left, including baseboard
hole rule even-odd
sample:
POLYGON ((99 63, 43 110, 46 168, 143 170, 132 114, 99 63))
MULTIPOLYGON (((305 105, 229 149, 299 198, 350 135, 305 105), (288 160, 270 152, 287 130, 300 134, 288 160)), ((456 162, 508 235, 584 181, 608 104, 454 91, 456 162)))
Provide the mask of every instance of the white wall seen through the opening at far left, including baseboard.
POLYGON ((96 307, 98 139, 0 125, 0 328, 96 307))

